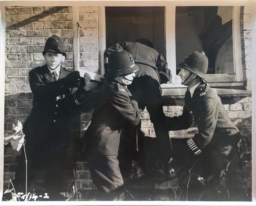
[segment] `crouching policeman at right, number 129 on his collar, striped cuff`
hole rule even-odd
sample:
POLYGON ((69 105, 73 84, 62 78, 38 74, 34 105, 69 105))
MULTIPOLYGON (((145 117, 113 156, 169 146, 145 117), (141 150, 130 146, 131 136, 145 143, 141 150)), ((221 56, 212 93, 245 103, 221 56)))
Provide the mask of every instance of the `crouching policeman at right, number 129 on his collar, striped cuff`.
MULTIPOLYGON (((192 52, 178 67, 181 68, 181 83, 188 86, 184 107, 192 111, 198 132, 191 138, 172 139, 173 161, 181 164, 186 172, 199 175, 208 188, 218 188, 238 150, 241 136, 220 97, 206 83, 208 59, 204 52, 192 52)), ((215 192, 215 195, 220 194, 220 191, 215 192)), ((209 191, 200 198, 217 200, 209 191)))

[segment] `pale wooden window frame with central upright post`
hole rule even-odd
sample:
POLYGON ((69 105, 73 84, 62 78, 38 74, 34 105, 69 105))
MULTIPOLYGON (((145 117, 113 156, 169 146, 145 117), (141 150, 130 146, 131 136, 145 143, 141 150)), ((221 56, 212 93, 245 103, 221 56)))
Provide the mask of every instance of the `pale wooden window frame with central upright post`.
MULTIPOLYGON (((172 73, 172 83, 162 84, 162 88, 183 88, 180 77, 176 74, 176 44, 175 44, 175 10, 178 4, 167 4, 165 6, 165 45, 166 61, 172 73), (171 25, 171 26, 169 26, 171 25)), ((186 5, 189 6, 189 5, 186 5)), ((198 5, 200 6, 200 5, 198 5)), ((210 5, 209 5, 210 6, 210 5)), ((103 52, 105 45, 105 6, 99 6, 99 48, 103 52)), ((234 74, 207 74, 210 86, 243 86, 243 70, 241 55, 241 34, 240 34, 240 9, 241 6, 233 6, 233 59, 234 74)), ((104 74, 103 54, 99 54, 99 72, 104 74)))

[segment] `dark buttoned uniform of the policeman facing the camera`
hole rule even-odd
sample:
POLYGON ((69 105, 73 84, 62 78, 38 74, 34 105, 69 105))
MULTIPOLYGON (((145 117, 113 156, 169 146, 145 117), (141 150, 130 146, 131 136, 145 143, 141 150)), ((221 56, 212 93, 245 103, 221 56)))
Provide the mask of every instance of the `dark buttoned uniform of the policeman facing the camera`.
MULTIPOLYGON (((45 171, 46 192, 59 191, 62 186, 62 172, 75 168, 72 162, 75 161, 75 142, 79 134, 72 132, 71 122, 80 118, 79 109, 83 100, 76 97, 76 93, 71 94, 71 88, 65 85, 64 77, 70 72, 61 67, 56 81, 47 65, 29 72, 33 107, 23 126, 28 183, 33 180, 35 171, 45 171)), ((25 183, 24 162, 22 151, 15 175, 18 184, 25 183)), ((61 189, 65 190, 67 187, 61 189)))

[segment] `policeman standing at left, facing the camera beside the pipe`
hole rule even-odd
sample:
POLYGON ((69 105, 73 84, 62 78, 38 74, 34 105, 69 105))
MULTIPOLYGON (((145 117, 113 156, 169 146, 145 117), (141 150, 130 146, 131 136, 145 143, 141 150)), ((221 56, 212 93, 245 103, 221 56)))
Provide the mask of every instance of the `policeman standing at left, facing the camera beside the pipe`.
MULTIPOLYGON (((70 149, 73 148, 76 136, 70 128, 70 120, 76 118, 76 115, 79 117, 90 76, 85 73, 81 78, 78 71, 72 72, 62 66, 67 54, 61 38, 56 35, 47 39, 43 55, 46 64, 29 72, 29 84, 34 99, 32 112, 23 126, 28 192, 33 192, 34 186, 31 183, 36 179, 35 172, 45 171, 45 184, 42 187, 49 200, 65 200, 60 195, 68 187, 62 184, 62 180, 65 180, 63 172, 73 171, 75 154, 70 149)), ((14 181, 17 188, 23 187, 23 191, 18 192, 25 192, 24 162, 23 150, 14 181)))

